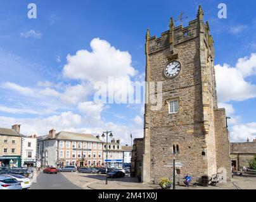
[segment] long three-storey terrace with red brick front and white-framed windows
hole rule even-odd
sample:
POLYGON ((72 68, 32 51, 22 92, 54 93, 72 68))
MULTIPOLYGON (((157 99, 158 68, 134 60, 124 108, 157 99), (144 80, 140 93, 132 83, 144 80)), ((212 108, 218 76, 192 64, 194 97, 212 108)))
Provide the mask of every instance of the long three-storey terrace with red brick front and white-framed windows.
POLYGON ((37 140, 38 158, 46 166, 95 166, 103 165, 103 142, 93 134, 72 133, 54 129, 37 140))

